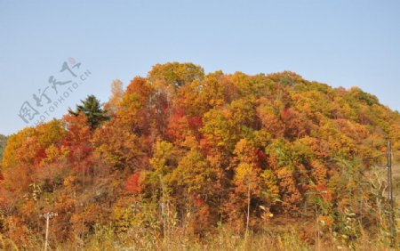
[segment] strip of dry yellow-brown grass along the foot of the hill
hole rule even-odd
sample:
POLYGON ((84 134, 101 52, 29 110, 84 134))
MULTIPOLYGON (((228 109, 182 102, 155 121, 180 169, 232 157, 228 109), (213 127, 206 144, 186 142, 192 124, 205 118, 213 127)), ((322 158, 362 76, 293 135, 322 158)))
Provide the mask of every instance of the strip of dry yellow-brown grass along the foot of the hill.
MULTIPOLYGON (((74 243, 57 245, 53 240, 49 250, 400 250, 400 246, 390 247, 388 243, 382 241, 380 236, 372 237, 364 234, 351 246, 348 246, 326 233, 322 234, 319 241, 300 239, 300 236, 303 235, 303 232, 288 225, 277 226, 276 229, 262 233, 250 232, 247 241, 244 241, 244 234, 237 234, 223 226, 205 235, 202 239, 181 232, 174 232, 171 235, 172 238, 164 239, 143 230, 130 230, 116 235, 111 228, 101 228, 95 231, 94 235, 85 243, 77 240, 74 243)), ((400 235, 398 237, 400 238, 400 235)), ((42 250, 44 243, 38 241, 29 247, 19 248, 12 241, 0 238, 0 247, 3 247, 2 250, 42 250)))

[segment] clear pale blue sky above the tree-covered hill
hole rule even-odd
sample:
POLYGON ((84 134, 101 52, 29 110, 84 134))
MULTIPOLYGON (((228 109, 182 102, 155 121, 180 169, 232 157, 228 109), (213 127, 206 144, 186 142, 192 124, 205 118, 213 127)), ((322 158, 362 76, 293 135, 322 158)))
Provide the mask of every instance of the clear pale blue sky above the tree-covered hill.
POLYGON ((113 79, 126 86, 167 61, 194 62, 206 72, 288 69, 332 86, 360 86, 399 110, 400 1, 0 0, 0 134, 32 125, 35 113, 25 117, 30 124, 18 114, 25 101, 36 107, 39 89, 52 102, 67 92, 71 84, 54 85, 59 94, 45 89, 51 76, 75 81, 91 72, 52 112, 43 96, 46 120, 88 94, 107 101, 113 79), (81 63, 71 68, 76 78, 60 72, 64 61, 74 65, 69 58, 81 63))

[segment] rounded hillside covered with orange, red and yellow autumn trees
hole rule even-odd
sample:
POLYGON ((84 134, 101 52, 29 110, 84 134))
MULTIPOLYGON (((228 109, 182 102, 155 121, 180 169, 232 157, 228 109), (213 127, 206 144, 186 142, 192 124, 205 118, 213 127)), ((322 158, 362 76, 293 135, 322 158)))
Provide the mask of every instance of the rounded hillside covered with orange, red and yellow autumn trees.
POLYGON ((290 71, 205 74, 177 62, 111 91, 104 105, 89 96, 8 137, 4 247, 42 245, 47 212, 58 214, 54 248, 96 236, 139 249, 202 245, 221 229, 244 246, 289 228, 307 247, 389 242, 386 177, 375 169, 388 139, 400 151, 400 115, 372 94, 290 71))

